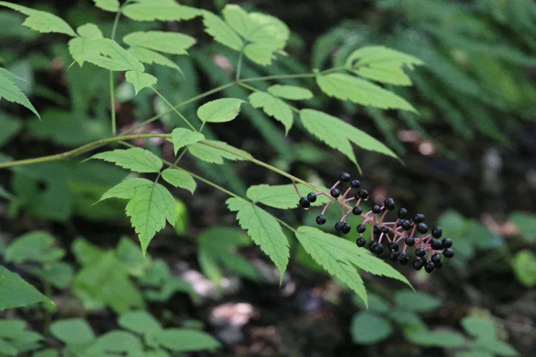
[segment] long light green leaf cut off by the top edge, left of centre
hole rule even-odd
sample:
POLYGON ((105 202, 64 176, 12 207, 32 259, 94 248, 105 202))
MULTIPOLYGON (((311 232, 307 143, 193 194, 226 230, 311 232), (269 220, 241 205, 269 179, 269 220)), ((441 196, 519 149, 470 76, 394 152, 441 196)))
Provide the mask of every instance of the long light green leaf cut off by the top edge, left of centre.
POLYGON ((179 5, 170 0, 137 0, 126 5, 122 13, 137 21, 181 21, 201 14, 195 7, 179 5))

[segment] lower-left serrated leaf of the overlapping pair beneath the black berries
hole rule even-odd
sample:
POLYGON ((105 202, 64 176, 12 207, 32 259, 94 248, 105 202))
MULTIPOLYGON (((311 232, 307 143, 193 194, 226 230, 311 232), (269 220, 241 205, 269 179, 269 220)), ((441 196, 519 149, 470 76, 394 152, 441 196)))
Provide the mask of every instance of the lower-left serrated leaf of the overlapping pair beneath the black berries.
POLYGON ((312 259, 322 265, 329 274, 351 288, 368 306, 367 290, 363 279, 345 255, 331 244, 332 241, 341 240, 341 238, 307 226, 298 227, 296 238, 312 259))

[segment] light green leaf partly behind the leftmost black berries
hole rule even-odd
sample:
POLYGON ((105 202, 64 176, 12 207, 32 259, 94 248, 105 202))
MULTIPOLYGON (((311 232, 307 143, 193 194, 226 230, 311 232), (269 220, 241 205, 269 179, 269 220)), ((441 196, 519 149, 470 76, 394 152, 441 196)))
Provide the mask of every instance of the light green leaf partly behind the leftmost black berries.
MULTIPOLYGON (((300 193, 306 196, 311 189, 303 184, 296 185, 300 193)), ((299 196, 297 195, 294 185, 255 185, 248 188, 246 193, 248 198, 255 203, 266 204, 266 206, 289 209, 297 208, 299 196)), ((329 199, 325 195, 318 195, 311 206, 323 206, 329 199)))

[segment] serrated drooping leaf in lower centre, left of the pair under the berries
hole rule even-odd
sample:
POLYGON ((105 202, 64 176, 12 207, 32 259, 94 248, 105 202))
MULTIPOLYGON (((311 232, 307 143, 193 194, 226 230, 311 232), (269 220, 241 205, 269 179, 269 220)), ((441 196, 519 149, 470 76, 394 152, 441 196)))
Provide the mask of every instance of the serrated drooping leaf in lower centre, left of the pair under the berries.
POLYGON ((279 269, 282 276, 289 257, 288 240, 281 226, 271 214, 255 204, 240 198, 226 201, 230 211, 236 211, 240 226, 248 231, 248 236, 266 253, 279 269))

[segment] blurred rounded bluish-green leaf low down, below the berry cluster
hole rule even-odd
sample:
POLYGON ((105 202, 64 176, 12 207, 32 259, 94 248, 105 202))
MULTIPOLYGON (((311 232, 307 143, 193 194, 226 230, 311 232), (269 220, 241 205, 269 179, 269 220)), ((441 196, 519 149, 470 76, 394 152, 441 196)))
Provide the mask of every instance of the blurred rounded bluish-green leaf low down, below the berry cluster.
POLYGON ((363 311, 352 318, 350 332, 354 343, 373 345, 391 336, 393 328, 385 318, 363 311))

